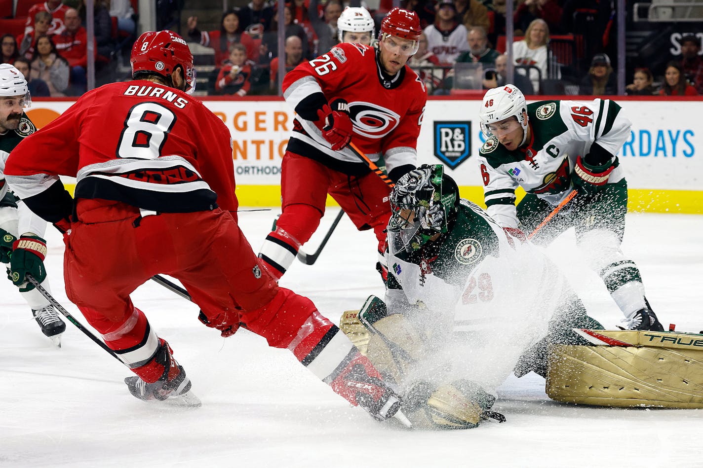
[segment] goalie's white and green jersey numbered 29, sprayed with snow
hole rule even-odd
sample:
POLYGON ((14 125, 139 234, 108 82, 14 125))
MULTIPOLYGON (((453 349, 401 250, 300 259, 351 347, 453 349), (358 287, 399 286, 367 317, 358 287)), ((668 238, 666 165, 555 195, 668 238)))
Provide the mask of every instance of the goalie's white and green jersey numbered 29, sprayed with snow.
POLYGON ((387 252, 387 261, 388 313, 403 313, 430 337, 433 362, 446 358, 486 389, 546 336, 550 318, 573 294, 536 247, 508 237, 467 200, 449 233, 417 250, 387 252))

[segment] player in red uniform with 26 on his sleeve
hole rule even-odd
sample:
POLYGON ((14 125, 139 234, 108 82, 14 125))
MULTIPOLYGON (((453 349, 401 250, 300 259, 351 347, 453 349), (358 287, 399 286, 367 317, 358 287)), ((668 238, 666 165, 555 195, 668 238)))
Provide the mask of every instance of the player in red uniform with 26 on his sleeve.
POLYGON ((283 214, 259 252, 276 278, 318 227, 328 194, 357 229, 374 230, 382 259, 390 188, 347 145, 383 156, 393 181, 415 168, 427 91, 406 63, 422 32, 417 13, 393 8, 376 46, 337 44, 285 75, 297 115, 281 167, 283 214))

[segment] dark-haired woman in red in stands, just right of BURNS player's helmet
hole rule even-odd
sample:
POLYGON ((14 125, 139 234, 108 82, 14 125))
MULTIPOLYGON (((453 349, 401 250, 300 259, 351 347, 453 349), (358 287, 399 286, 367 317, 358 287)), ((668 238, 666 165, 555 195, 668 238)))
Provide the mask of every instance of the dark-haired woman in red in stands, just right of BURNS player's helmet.
POLYGON ((254 42, 249 34, 243 33, 240 25, 240 16, 236 10, 222 13, 219 31, 198 30, 198 17, 191 16, 187 20, 188 38, 200 42, 205 47, 212 47, 215 51, 215 65, 219 67, 229 58, 229 49, 237 43, 247 48, 247 58, 257 61, 259 58, 259 45, 254 42))

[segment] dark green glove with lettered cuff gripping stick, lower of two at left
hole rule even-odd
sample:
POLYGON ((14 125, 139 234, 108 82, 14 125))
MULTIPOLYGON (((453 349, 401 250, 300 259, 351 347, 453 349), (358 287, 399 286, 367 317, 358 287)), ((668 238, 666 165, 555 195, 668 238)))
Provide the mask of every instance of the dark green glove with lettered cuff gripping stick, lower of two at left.
POLYGON ((31 291, 34 285, 27 281, 27 275, 39 282, 46 278, 46 241, 37 235, 22 235, 12 247, 8 278, 20 288, 20 292, 31 291))

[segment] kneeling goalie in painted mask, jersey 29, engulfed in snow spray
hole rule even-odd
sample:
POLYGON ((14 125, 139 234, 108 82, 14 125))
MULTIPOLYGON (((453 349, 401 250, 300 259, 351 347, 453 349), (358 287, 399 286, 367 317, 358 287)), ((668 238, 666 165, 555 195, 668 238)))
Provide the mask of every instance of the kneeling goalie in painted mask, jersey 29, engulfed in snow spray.
POLYGON ((546 375, 544 337, 583 344, 571 327, 602 328, 545 256, 459 198, 441 165, 401 177, 391 210, 385 304, 371 297, 341 327, 401 386, 415 427, 500 419, 494 389, 514 368, 546 375))

